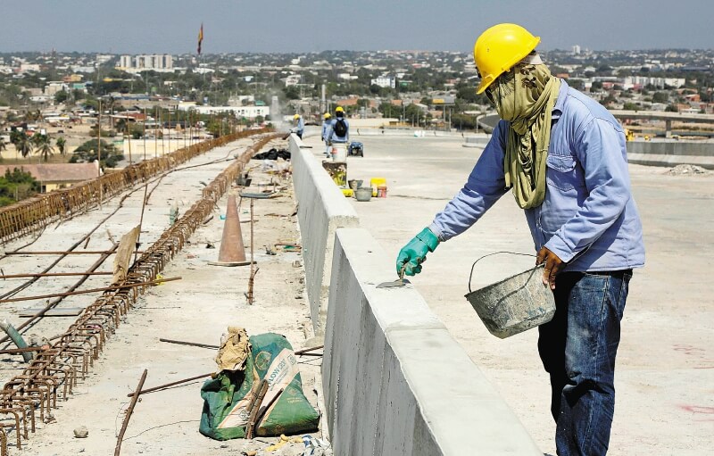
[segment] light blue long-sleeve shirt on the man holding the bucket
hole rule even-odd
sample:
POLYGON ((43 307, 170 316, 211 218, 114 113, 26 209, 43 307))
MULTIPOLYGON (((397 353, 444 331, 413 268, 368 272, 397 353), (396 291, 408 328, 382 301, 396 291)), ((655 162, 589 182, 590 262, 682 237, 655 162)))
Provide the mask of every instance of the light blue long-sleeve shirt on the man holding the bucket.
MULTIPOLYGON (((507 131, 508 123, 501 120, 465 186, 436 214, 429 228, 441 240, 461 234, 509 192, 503 177, 507 131)), ((545 180, 543 204, 525 210, 536 252, 547 247, 568 262, 564 270, 644 265, 622 127, 601 104, 565 81, 552 110, 545 180)))

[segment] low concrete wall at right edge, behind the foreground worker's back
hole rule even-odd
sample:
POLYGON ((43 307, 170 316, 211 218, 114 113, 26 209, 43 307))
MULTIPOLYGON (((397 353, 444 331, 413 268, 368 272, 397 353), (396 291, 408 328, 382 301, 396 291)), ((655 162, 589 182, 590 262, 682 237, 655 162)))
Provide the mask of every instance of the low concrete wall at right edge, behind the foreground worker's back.
POLYGON ((692 164, 714 170, 714 142, 630 141, 627 161, 651 166, 692 164))

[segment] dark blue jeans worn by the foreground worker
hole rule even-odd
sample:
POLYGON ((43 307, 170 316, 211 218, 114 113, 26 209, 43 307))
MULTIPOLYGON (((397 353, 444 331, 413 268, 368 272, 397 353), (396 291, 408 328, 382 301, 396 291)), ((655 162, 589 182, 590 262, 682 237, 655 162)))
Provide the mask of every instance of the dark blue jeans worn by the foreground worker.
POLYGON ((615 411, 615 355, 632 270, 563 272, 555 316, 541 325, 538 352, 551 376, 560 456, 608 451, 615 411))

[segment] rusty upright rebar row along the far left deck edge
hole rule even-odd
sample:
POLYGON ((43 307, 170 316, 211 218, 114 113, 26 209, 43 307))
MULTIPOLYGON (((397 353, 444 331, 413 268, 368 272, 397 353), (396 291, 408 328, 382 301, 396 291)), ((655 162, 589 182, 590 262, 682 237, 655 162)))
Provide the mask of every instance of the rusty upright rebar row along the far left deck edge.
POLYGON ((265 134, 267 129, 245 130, 182 147, 173 153, 87 180, 83 184, 37 195, 19 203, 0 208, 0 242, 25 236, 44 228, 54 220, 64 219, 78 212, 98 206, 105 199, 118 195, 130 187, 145 182, 157 174, 179 166, 197 155, 242 137, 265 134))

